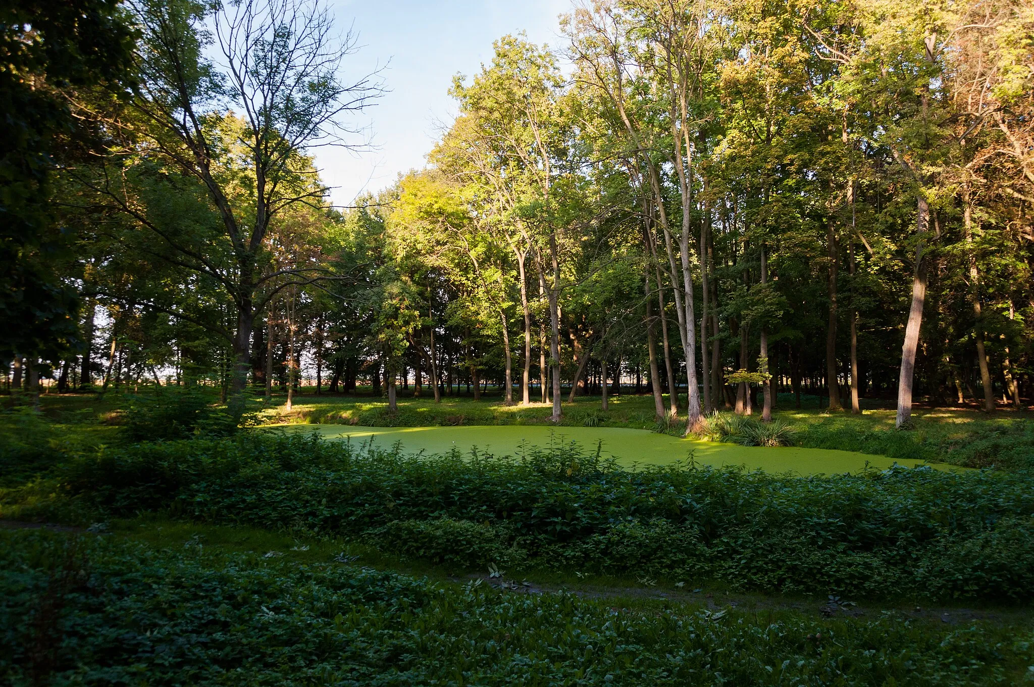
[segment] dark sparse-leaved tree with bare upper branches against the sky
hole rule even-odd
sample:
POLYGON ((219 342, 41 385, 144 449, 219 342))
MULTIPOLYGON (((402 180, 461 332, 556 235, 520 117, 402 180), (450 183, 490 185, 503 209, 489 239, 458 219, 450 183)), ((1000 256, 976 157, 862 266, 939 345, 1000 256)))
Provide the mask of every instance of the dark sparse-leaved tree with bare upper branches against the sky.
POLYGON ((344 119, 379 88, 373 74, 341 81, 355 35, 336 40, 318 2, 244 0, 209 10, 190 0, 143 0, 134 9, 143 37, 141 97, 133 101, 140 125, 132 132, 149 154, 203 185, 221 222, 214 249, 232 261, 219 264, 212 247, 184 245, 128 203, 124 209, 166 244, 173 260, 217 280, 233 300, 233 390, 240 392, 255 315, 287 287, 333 276, 323 266, 273 269, 268 258, 274 218, 295 205, 318 206, 326 193, 302 153, 355 147, 342 138, 351 132, 344 119), (210 48, 217 62, 206 57, 210 48), (239 115, 226 118, 226 109, 239 115), (232 173, 230 162, 246 174, 232 173), (273 286, 278 277, 286 278, 273 286))

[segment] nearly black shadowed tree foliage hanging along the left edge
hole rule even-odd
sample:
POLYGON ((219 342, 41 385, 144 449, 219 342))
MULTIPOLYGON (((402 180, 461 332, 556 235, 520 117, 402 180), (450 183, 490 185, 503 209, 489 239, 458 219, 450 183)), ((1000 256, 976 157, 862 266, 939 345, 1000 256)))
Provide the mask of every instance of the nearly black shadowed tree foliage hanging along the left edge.
POLYGON ((27 357, 38 377, 37 358, 55 360, 81 342, 77 294, 58 269, 73 232, 54 212, 53 178, 60 158, 98 141, 67 97, 124 92, 132 30, 112 0, 12 0, 0 7, 0 317, 12 325, 0 360, 27 357))

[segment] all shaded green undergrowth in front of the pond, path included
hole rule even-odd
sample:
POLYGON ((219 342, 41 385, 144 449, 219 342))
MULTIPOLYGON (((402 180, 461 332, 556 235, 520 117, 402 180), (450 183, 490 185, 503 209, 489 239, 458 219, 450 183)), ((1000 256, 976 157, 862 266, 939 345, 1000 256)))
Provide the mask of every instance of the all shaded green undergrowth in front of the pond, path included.
POLYGON ((407 455, 115 400, 3 416, 0 520, 66 530, 0 529, 4 684, 1034 681, 1023 469, 407 455))

